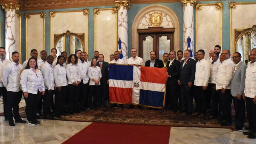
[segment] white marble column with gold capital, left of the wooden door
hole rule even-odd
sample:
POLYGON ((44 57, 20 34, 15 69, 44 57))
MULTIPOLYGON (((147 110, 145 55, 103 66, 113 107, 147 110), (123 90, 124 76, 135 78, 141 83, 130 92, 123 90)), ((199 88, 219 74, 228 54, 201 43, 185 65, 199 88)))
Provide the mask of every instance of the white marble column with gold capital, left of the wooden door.
MULTIPOLYGON (((118 39, 122 41, 122 53, 123 61, 126 63, 128 59, 128 15, 127 11, 130 8, 128 1, 118 2, 116 1, 116 7, 118 8, 118 39)), ((137 47, 136 47, 137 48, 137 47)))

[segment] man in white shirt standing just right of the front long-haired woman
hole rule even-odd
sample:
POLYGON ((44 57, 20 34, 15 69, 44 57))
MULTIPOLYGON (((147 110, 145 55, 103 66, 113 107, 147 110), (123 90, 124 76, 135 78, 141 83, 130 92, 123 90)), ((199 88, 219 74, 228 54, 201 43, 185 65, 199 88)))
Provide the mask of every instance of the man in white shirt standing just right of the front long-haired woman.
MULTIPOLYGON (((53 56, 48 56, 46 59, 45 64, 41 69, 43 78, 44 78, 44 85, 45 85, 45 95, 42 96, 43 99, 43 118, 49 119, 53 118, 50 114, 50 104, 53 95, 53 90, 55 89, 54 85, 54 77, 53 77, 53 56)), ((55 99, 56 101, 56 99, 55 99)), ((59 116, 59 114, 55 115, 59 116)))

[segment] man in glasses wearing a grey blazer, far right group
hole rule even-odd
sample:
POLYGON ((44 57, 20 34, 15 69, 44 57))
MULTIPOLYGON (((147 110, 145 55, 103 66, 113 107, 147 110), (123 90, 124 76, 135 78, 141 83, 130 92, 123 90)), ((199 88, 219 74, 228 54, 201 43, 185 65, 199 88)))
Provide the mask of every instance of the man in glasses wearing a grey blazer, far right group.
POLYGON ((231 95, 235 108, 235 127, 231 132, 243 131, 245 121, 245 100, 242 98, 245 89, 245 72, 247 66, 241 61, 242 55, 239 52, 233 54, 233 62, 235 63, 235 71, 231 80, 231 95))

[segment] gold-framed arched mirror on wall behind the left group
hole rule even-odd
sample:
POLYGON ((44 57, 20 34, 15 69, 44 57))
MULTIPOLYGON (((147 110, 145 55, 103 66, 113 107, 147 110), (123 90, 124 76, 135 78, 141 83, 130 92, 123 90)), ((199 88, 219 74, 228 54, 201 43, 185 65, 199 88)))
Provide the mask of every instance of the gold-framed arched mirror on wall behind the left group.
POLYGON ((66 51, 68 55, 75 54, 77 50, 84 51, 84 33, 54 34, 54 48, 57 49, 57 56, 66 51))

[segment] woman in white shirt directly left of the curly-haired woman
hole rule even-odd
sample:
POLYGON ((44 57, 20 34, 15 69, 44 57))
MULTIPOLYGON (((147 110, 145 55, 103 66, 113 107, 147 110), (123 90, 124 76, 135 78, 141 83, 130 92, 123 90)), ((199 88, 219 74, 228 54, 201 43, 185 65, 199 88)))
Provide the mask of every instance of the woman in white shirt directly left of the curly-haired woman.
POLYGON ((57 63, 53 68, 53 77, 56 87, 54 105, 55 117, 60 117, 61 115, 68 116, 68 114, 64 112, 68 83, 66 77, 66 68, 64 67, 63 63, 65 63, 64 56, 58 56, 57 63))

